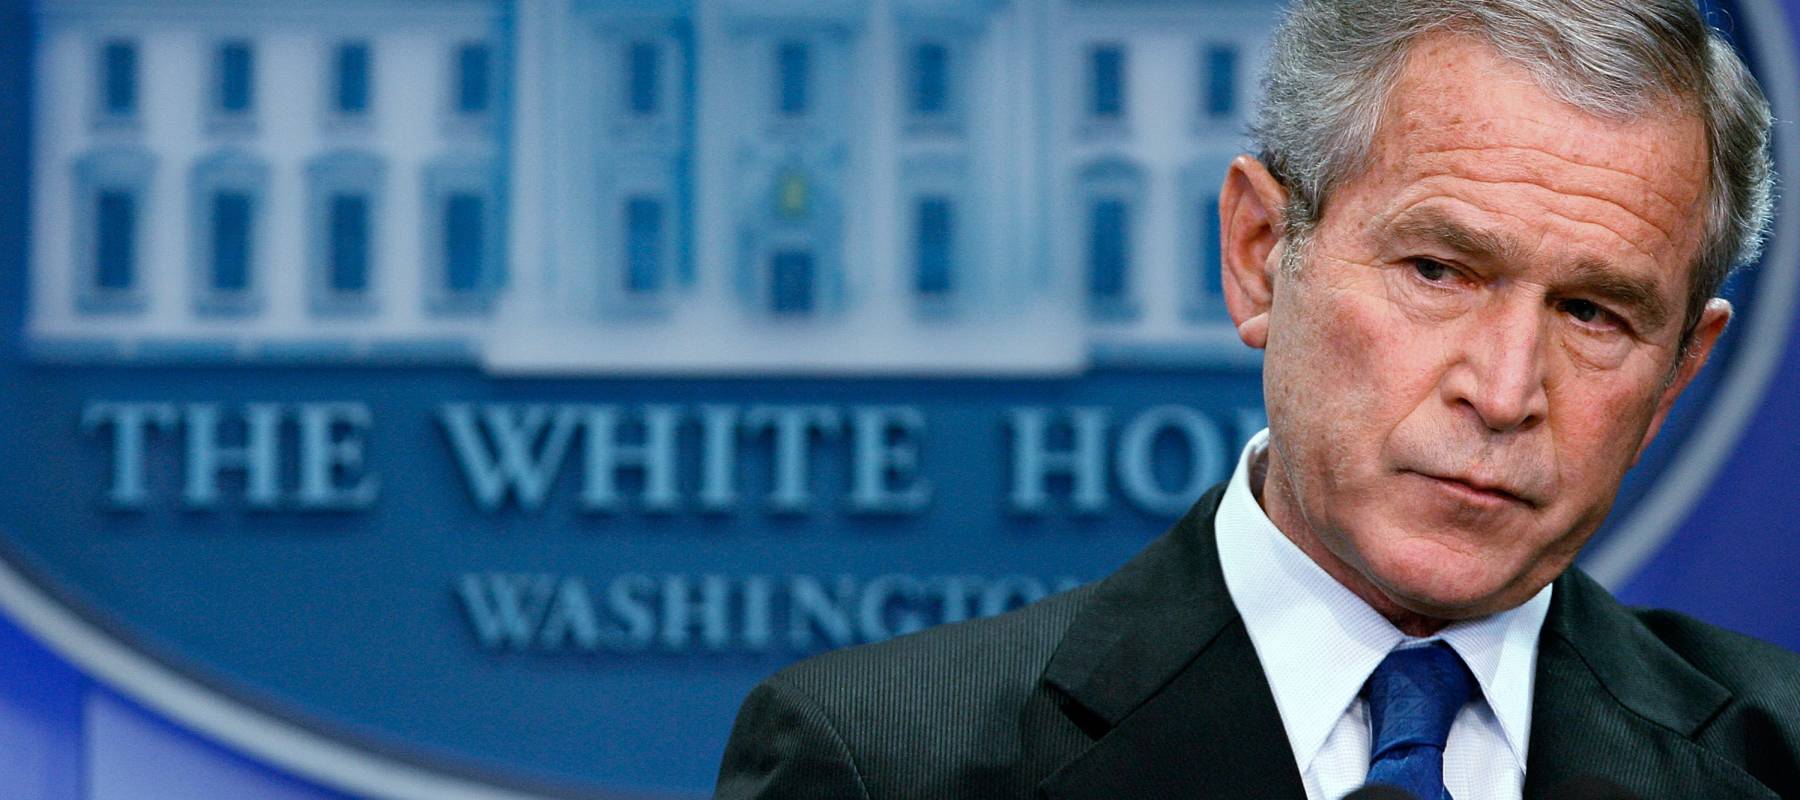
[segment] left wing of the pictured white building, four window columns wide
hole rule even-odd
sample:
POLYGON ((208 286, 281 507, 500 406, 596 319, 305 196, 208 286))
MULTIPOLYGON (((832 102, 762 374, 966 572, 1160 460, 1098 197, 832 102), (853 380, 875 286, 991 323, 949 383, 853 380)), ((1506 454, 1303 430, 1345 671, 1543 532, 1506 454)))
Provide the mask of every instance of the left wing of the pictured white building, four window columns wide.
POLYGON ((504 283, 500 20, 477 2, 43 4, 32 351, 475 353, 504 283))

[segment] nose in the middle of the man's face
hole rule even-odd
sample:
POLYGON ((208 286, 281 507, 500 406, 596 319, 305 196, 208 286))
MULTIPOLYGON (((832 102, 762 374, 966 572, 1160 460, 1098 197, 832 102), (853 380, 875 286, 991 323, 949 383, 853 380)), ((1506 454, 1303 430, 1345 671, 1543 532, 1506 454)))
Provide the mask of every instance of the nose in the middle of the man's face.
POLYGON ((1489 431, 1528 431, 1550 411, 1544 323, 1523 308, 1485 317, 1454 344, 1444 400, 1469 409, 1489 431))

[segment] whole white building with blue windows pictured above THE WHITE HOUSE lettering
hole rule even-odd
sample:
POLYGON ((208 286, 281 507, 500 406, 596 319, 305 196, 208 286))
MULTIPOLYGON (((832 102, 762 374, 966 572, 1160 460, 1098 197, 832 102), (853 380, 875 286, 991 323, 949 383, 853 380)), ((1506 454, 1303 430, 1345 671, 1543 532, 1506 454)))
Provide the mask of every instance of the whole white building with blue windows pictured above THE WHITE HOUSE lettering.
POLYGON ((1255 0, 38 0, 25 342, 77 362, 1244 360, 1255 0))

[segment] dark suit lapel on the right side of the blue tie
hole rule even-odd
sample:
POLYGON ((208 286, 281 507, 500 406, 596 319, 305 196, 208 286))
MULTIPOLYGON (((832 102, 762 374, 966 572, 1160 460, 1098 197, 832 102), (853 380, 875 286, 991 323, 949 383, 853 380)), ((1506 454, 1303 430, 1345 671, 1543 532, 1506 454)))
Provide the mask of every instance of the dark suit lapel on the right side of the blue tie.
POLYGON ((1552 800, 1564 782, 1598 777, 1645 798, 1775 800, 1694 742, 1726 703, 1724 686, 1570 569, 1539 638, 1525 798, 1552 800))

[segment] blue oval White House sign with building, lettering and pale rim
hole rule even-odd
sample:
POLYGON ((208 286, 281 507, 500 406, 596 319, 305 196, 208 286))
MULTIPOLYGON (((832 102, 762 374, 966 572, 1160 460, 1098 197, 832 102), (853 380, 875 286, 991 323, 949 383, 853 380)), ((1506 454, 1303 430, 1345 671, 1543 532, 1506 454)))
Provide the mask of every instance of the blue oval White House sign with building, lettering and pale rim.
MULTIPOLYGON (((0 605, 353 793, 700 795, 756 677, 1098 577, 1262 427, 1267 5, 40 0, 0 605)), ((1602 578, 1760 396, 1793 220, 1602 578)))

